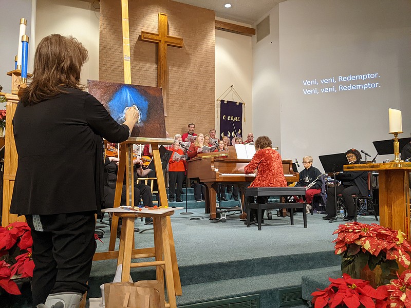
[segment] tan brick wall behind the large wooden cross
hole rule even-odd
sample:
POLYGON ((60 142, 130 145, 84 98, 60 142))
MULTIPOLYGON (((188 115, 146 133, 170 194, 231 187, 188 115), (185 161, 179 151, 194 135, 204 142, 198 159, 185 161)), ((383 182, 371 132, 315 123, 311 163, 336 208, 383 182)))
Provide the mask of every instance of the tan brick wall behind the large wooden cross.
MULTIPOLYGON (((215 126, 215 13, 167 0, 128 1, 132 83, 157 86, 157 44, 143 42, 141 31, 158 33, 158 13, 166 13, 169 34, 183 38, 183 48, 167 48, 167 116, 170 136, 187 131, 208 133, 215 126)), ((121 2, 100 2, 99 80, 124 82, 121 2)))

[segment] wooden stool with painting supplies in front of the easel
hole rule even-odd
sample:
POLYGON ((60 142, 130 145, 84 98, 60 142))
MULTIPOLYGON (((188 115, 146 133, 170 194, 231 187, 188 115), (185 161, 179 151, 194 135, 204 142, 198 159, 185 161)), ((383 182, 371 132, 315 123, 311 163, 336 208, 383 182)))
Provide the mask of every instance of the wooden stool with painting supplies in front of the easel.
MULTIPOLYGON (((123 219, 123 225, 121 228, 119 255, 117 259, 117 266, 123 264, 121 281, 129 281, 130 267, 145 267, 156 266, 157 280, 164 283, 167 288, 167 295, 169 297, 169 303, 165 303, 165 307, 176 308, 176 290, 173 274, 173 263, 171 256, 169 226, 167 225, 167 216, 174 214, 174 211, 169 211, 163 214, 157 214, 156 210, 153 210, 153 214, 146 213, 114 213, 119 218, 123 219), (155 261, 147 262, 131 262, 132 253, 134 248, 134 220, 140 217, 153 217, 154 226, 154 253, 155 261)), ((171 235, 172 236, 172 235, 171 235)), ((133 255, 134 258, 147 258, 151 257, 151 254, 138 254, 133 255)))

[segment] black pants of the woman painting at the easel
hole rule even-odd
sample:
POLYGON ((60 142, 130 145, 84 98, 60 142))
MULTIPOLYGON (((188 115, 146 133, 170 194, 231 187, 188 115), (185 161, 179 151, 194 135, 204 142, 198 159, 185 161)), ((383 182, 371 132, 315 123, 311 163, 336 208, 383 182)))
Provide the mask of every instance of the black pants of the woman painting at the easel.
POLYGON ((88 291, 96 251, 94 212, 40 215, 40 226, 33 224, 33 215, 26 219, 33 238, 33 307, 49 294, 88 291))

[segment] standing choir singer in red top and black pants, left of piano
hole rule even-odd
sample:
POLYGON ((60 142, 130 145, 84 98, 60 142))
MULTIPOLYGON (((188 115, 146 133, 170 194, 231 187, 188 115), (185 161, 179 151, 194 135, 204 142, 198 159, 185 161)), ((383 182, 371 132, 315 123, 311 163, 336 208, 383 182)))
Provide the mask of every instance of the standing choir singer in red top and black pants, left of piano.
POLYGON ((184 160, 185 157, 175 158, 174 153, 184 155, 183 150, 180 148, 178 140, 174 140, 172 155, 169 161, 169 202, 174 202, 174 195, 177 202, 182 202, 181 192, 183 190, 183 180, 185 173, 184 160), (177 184, 177 191, 176 191, 177 184))

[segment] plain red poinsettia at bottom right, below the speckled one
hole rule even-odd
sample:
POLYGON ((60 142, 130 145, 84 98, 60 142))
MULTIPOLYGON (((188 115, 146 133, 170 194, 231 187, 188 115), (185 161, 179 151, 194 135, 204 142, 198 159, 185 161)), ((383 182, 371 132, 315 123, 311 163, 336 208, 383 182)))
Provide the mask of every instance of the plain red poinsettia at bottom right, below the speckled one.
POLYGON ((343 274, 343 278, 332 279, 325 290, 311 293, 312 302, 315 308, 329 306, 335 308, 345 305, 348 308, 358 308, 361 304, 366 308, 375 308, 376 300, 384 301, 387 298, 387 291, 383 287, 377 290, 369 285, 368 281, 352 279, 348 274, 343 274))

